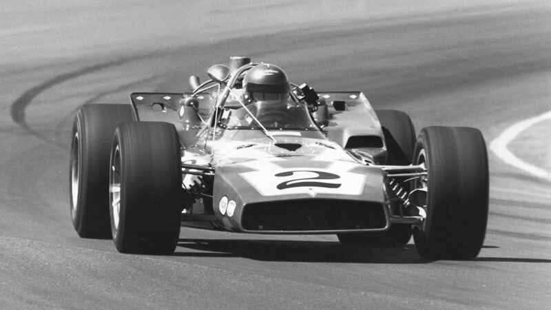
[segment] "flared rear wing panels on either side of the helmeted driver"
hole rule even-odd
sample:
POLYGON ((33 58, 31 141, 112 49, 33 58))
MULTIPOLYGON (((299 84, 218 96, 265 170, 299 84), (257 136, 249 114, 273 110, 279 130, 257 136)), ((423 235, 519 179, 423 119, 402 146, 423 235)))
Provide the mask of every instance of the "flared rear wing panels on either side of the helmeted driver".
MULTIPOLYGON (((196 105, 186 105, 191 92, 134 92, 130 100, 138 121, 172 123, 185 147, 196 143, 200 126, 208 121, 216 97, 209 93, 196 95, 196 105)), ((363 92, 318 92, 324 102, 313 112, 318 124, 324 125, 329 138, 348 149, 364 149, 375 158, 386 156, 384 134, 375 110, 363 92)))

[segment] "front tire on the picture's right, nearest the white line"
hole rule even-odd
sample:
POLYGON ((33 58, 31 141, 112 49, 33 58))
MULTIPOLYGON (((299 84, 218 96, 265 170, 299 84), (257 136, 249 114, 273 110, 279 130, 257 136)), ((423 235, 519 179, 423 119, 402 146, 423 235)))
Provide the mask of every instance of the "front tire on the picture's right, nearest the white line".
POLYGON ((430 259, 475 258, 488 220, 488 154, 481 132, 469 127, 426 127, 415 145, 415 163, 428 176, 426 219, 414 227, 419 255, 430 259))

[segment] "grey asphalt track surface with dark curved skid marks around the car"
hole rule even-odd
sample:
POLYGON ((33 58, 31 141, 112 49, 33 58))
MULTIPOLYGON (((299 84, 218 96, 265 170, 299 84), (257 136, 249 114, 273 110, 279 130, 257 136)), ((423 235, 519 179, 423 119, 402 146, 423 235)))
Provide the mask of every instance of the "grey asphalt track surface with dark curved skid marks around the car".
MULTIPOLYGON (((27 2, 0 5, 2 308, 548 307, 551 183, 493 154, 488 233, 469 261, 424 260, 413 241, 364 249, 195 229, 173 256, 123 255, 76 236, 68 197, 79 106, 178 92, 232 55, 316 90, 362 90, 417 131, 474 126, 490 143, 551 110, 548 1, 27 2)), ((510 150, 550 171, 548 128, 510 150)))

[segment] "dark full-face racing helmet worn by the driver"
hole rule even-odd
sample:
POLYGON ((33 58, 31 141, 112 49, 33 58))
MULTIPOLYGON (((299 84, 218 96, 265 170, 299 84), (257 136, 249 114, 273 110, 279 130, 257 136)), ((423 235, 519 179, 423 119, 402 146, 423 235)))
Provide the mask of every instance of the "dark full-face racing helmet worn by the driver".
POLYGON ((289 79, 277 65, 262 63, 245 74, 243 90, 249 103, 284 100, 289 97, 289 79))

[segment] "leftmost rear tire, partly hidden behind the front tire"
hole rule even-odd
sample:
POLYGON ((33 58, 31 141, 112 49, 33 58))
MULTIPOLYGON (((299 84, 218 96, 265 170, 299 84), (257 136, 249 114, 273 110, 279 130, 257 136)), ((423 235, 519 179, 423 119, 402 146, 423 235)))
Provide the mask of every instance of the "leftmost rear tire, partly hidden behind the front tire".
POLYGON ((118 123, 136 119, 132 105, 85 105, 72 128, 69 192, 74 229, 82 238, 110 238, 109 153, 118 123))

